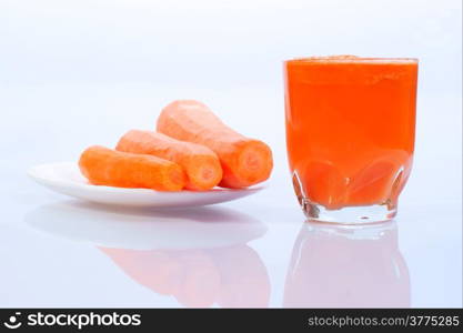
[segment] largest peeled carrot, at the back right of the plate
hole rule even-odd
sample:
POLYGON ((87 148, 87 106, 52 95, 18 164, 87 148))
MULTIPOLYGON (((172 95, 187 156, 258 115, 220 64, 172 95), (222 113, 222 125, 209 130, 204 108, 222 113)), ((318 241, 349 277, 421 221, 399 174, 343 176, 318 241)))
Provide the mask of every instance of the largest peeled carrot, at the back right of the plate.
POLYGON ((158 119, 158 132, 203 144, 222 164, 224 188, 244 188, 266 180, 273 168, 272 151, 262 141, 245 138, 225 125, 203 103, 174 101, 158 119))

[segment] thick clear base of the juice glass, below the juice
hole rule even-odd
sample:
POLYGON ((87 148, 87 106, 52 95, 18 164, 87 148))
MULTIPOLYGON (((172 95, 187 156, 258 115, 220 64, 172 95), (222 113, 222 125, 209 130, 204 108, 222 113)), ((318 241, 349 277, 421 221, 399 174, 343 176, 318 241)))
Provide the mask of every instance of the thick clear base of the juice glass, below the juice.
POLYGON ((368 224, 392 220, 397 210, 387 204, 374 204, 364 206, 345 206, 339 210, 328 210, 321 204, 302 200, 302 210, 310 221, 341 223, 341 224, 368 224))

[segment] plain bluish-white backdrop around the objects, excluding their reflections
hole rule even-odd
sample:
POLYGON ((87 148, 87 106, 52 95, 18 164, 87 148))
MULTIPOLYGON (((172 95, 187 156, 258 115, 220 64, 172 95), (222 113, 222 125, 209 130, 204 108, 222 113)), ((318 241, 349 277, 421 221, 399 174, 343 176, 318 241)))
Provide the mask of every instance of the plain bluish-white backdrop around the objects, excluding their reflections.
POLYGON ((281 306, 304 221, 286 170, 282 61, 319 54, 420 59, 400 248, 412 306, 461 306, 460 0, 0 0, 0 305, 179 305, 131 281, 94 246, 27 226, 28 213, 64 198, 26 170, 76 160, 90 144, 113 145, 128 129, 153 128, 165 103, 193 98, 274 151, 269 190, 222 206, 268 226, 250 245, 269 272, 269 305, 281 306))

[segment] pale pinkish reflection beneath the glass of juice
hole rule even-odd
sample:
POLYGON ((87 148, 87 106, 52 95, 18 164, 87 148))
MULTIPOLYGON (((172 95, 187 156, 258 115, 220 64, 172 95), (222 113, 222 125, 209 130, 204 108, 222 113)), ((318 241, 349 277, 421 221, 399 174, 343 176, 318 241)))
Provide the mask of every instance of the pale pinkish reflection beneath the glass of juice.
POLYGON ((395 222, 305 223, 293 248, 283 305, 407 307, 410 278, 395 222))

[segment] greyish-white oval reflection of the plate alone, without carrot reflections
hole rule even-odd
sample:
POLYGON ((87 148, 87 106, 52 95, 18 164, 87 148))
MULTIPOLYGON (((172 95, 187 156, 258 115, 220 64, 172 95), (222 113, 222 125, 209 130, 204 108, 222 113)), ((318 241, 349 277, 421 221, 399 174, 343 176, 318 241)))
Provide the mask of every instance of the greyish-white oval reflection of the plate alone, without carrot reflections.
POLYGON ((262 236, 262 222, 224 208, 175 210, 101 206, 61 202, 26 215, 34 229, 98 246, 118 249, 215 249, 262 236))

